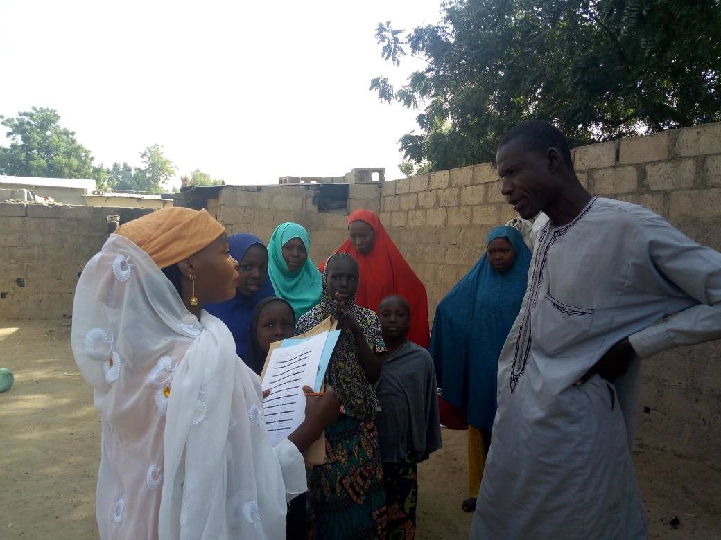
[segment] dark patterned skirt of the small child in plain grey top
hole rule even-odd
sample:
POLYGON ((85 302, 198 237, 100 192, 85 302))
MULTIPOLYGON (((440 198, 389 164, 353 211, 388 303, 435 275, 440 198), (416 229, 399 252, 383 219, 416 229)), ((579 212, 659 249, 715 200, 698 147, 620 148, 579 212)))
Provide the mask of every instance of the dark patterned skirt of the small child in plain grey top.
POLYGON ((388 540, 415 538, 415 505, 418 500, 418 464, 410 459, 383 464, 388 507, 388 540))

